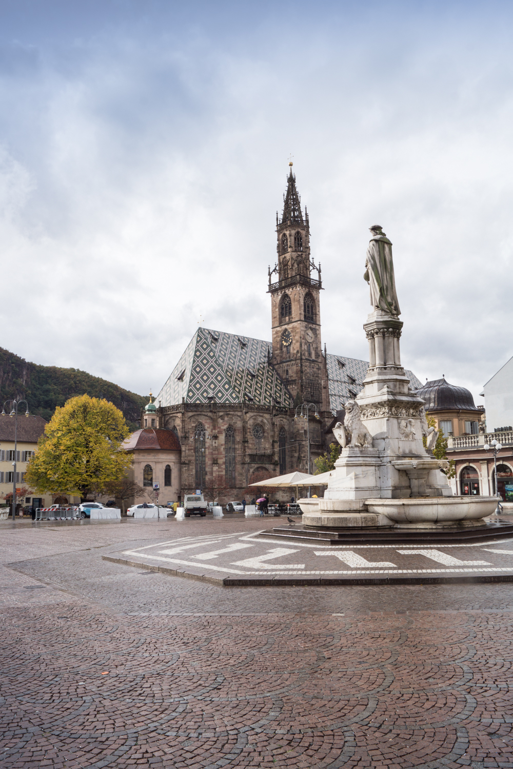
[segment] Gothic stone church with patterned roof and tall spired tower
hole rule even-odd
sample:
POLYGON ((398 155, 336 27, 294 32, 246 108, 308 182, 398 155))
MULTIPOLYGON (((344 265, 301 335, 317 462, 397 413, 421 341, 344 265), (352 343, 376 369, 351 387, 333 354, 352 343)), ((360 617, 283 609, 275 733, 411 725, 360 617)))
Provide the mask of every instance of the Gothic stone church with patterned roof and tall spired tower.
MULTIPOLYGON (((308 212, 301 210, 291 168, 276 234, 277 261, 268 270, 271 341, 198 328, 155 402, 150 398, 142 411, 142 431, 155 431, 155 447, 166 444, 161 431, 172 431, 173 454, 179 451, 173 473, 157 449, 154 461, 148 455, 144 466, 135 463, 135 481, 158 482, 161 504, 195 489, 222 503, 249 501, 255 481, 315 472, 345 402, 361 390, 368 361, 332 355, 322 345, 321 268, 311 257, 308 212), (168 468, 167 478, 158 468, 168 468)), ((412 387, 421 387, 406 374, 412 387)))

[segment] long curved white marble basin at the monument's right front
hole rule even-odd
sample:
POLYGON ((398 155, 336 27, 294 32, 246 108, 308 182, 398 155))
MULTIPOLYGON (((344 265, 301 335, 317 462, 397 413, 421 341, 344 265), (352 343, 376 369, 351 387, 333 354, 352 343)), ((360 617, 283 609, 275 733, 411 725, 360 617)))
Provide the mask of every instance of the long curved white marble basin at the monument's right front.
POLYGON ((497 508, 496 497, 421 497, 367 499, 370 513, 386 515, 395 523, 445 523, 488 518, 497 508))

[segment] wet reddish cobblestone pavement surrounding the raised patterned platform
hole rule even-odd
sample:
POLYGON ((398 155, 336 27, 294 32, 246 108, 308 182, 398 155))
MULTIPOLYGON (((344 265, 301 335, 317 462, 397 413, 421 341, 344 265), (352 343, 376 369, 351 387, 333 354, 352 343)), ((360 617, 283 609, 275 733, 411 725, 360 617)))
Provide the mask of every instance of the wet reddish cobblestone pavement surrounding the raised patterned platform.
POLYGON ((241 527, 0 524, 0 767, 513 767, 513 585, 222 588, 102 560, 241 527))

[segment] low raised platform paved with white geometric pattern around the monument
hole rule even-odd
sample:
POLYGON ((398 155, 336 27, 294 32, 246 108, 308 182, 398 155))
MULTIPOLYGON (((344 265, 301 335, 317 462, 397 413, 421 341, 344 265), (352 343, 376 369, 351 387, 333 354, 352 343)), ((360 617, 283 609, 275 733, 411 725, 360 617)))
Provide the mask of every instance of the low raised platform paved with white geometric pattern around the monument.
MULTIPOLYGON (((293 531, 293 530, 292 530, 293 531)), ((284 541, 269 530, 192 535, 104 556, 120 564, 225 586, 345 584, 456 578, 513 580, 513 538, 472 544, 351 544, 284 541)))

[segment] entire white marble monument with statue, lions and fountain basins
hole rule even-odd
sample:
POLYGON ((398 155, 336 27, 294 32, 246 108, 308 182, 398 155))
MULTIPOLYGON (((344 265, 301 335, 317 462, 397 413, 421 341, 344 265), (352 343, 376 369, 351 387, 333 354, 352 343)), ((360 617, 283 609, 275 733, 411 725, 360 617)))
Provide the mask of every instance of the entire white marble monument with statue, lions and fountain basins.
POLYGON ((333 430, 342 448, 324 498, 299 501, 303 524, 317 529, 482 526, 497 499, 452 495, 442 472, 448 463, 431 451, 438 433, 428 428, 424 401, 401 366, 403 324, 391 241, 380 225, 371 227, 365 268, 371 293, 364 324, 367 376, 360 394, 345 404, 344 424, 333 430))

